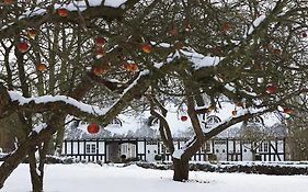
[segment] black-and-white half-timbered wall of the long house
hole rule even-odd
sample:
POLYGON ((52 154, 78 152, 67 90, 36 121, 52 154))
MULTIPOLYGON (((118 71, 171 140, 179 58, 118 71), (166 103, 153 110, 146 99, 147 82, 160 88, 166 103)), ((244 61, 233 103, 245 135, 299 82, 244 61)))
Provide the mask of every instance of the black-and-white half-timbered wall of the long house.
MULTIPOLYGON (((186 138, 178 138, 174 139, 174 147, 180 148, 187 139, 186 138)), ((73 157, 79 160, 85 161, 107 161, 106 155, 106 146, 112 143, 129 143, 134 144, 136 158, 139 160, 147 161, 147 153, 149 144, 152 146, 157 146, 157 154, 163 155, 163 160, 171 161, 171 154, 166 150, 162 142, 160 139, 151 139, 151 138, 105 138, 105 139, 66 139, 64 142, 64 150, 62 155, 67 157, 73 157), (95 153, 85 153, 87 144, 95 145, 95 153), (83 148, 83 150, 81 150, 83 148), (140 150, 141 149, 141 150, 140 150)), ((191 160, 193 161, 207 161, 210 160, 209 157, 213 155, 218 156, 218 148, 220 144, 220 148, 225 146, 223 149, 226 161, 241 161, 243 160, 244 150, 244 140, 236 139, 236 138, 214 138, 207 142, 210 144, 209 148, 206 148, 206 144, 203 148, 201 148, 191 160)), ((266 151, 258 151, 258 155, 261 156, 263 161, 284 161, 286 160, 285 154, 285 138, 275 138, 272 140, 263 140, 262 144, 269 146, 266 151), (280 144, 278 144, 280 143, 280 144)))

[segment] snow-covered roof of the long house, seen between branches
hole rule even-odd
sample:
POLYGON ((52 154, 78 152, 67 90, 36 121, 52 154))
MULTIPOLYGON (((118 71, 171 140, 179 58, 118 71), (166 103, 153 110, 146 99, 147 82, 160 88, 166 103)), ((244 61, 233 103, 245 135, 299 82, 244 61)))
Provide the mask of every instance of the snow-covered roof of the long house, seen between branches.
MULTIPOLYGON (((232 111, 235 110, 235 104, 229 102, 221 103, 221 110, 218 109, 217 112, 210 112, 208 116, 217 116, 221 120, 221 122, 230 118, 232 116, 232 111)), ((168 114, 166 120, 168 121, 170 125, 171 133, 174 137, 190 137, 193 135, 192 132, 192 124, 191 120, 187 118, 186 121, 181 121, 181 116, 185 114, 184 112, 179 112, 178 108, 169 104, 167 106, 168 114)), ((238 109, 237 109, 238 110, 238 109)), ((82 124, 78 126, 78 129, 82 131, 82 134, 84 134, 82 137, 84 138, 104 138, 104 137, 152 137, 157 138, 160 137, 158 124, 148 125, 150 112, 145 111, 139 114, 119 114, 117 118, 122 122, 122 125, 119 124, 109 124, 105 127, 102 127, 100 133, 90 135, 87 133, 88 124, 82 124)), ((264 121, 264 124, 266 127, 273 126, 276 123, 280 123, 281 121, 274 115, 274 114, 265 114, 262 115, 262 118, 264 121)), ((206 118, 204 120, 207 121, 206 118)), ((205 126, 205 124, 202 123, 202 126, 205 126)), ((242 122, 237 123, 232 126, 230 126, 225 132, 220 133, 218 137, 236 137, 237 131, 241 128, 242 122)), ((205 132, 210 131, 210 128, 205 128, 205 132)), ((71 132, 75 132, 71 129, 71 132)), ((77 136, 80 137, 80 136, 77 136)), ((70 137, 69 137, 70 138, 70 137)), ((76 137, 75 137, 76 138, 76 137)))

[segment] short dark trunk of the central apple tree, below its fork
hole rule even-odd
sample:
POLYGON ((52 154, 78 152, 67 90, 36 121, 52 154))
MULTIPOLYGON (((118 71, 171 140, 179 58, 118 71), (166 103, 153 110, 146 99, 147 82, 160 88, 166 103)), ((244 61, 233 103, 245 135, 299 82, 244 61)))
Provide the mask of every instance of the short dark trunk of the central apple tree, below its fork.
POLYGON ((172 158, 173 161, 173 180, 186 181, 189 180, 190 165, 189 160, 172 158))

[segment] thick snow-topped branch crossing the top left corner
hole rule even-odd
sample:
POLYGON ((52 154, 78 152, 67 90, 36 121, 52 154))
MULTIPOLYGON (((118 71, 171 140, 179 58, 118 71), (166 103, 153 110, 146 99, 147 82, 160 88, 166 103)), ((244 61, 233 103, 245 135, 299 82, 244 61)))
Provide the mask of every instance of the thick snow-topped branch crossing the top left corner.
MULTIPOLYGON (((22 10, 23 12, 16 16, 18 20, 8 21, 0 25, 0 36, 5 37, 10 33, 8 31, 21 30, 31 26, 33 22, 43 24, 45 22, 71 22, 79 23, 80 16, 91 19, 115 19, 122 16, 125 11, 134 8, 134 4, 138 0, 81 0, 69 2, 49 2, 38 1, 33 5, 26 4, 22 10), (66 9, 69 13, 65 18, 57 15, 58 9, 66 9)), ((14 7, 19 7, 18 3, 26 3, 22 0, 15 2, 14 7)), ((82 20, 82 19, 81 19, 82 20)))

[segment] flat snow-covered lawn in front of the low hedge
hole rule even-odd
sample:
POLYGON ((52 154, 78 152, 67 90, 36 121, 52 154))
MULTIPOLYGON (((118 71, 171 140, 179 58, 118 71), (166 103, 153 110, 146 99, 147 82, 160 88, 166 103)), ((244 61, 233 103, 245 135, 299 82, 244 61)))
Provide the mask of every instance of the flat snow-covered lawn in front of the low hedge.
MULTIPOLYGON (((264 176, 191 171, 190 182, 172 181, 171 170, 135 165, 47 165, 44 192, 304 192, 308 176, 264 176)), ((28 166, 21 165, 4 183, 3 192, 30 192, 28 166)))

